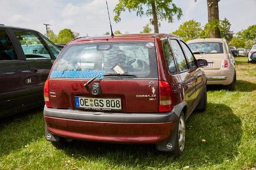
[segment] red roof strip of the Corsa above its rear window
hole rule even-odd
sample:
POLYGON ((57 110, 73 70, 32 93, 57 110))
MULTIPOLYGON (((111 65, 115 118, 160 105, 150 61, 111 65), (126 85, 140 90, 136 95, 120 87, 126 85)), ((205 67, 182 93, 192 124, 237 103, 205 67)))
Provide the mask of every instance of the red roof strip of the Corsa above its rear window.
MULTIPOLYGON (((177 37, 165 33, 138 33, 124 34, 115 36, 99 36, 99 37, 79 37, 73 39, 68 44, 80 44, 84 42, 102 42, 102 41, 154 41, 155 38, 162 39, 163 37, 177 37)), ((177 37, 179 38, 179 37, 177 37)))

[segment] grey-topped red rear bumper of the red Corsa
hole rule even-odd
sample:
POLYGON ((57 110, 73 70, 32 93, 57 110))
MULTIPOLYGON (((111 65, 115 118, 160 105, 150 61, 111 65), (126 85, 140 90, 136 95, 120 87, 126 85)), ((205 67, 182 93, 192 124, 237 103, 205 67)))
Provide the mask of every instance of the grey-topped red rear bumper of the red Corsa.
POLYGON ((45 107, 44 120, 46 133, 61 137, 114 143, 158 143, 172 136, 179 117, 174 111, 107 113, 45 107))

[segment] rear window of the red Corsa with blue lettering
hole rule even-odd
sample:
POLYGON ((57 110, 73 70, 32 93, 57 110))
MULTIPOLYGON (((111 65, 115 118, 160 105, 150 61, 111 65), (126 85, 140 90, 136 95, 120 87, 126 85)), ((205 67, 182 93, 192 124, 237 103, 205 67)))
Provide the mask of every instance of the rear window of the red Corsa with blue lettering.
MULTIPOLYGON (((102 74, 158 78, 154 42, 95 42, 67 45, 53 66, 51 78, 104 78, 102 74), (101 75, 101 76, 100 76, 101 75)), ((108 76, 109 78, 109 76, 108 76)))

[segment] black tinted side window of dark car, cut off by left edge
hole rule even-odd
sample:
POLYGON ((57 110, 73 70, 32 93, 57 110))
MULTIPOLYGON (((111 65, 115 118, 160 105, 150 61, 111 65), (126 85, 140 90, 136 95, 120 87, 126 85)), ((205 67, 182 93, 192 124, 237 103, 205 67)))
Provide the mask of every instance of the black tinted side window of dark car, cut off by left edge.
POLYGON ((13 42, 5 30, 0 29, 0 61, 18 59, 13 42))

